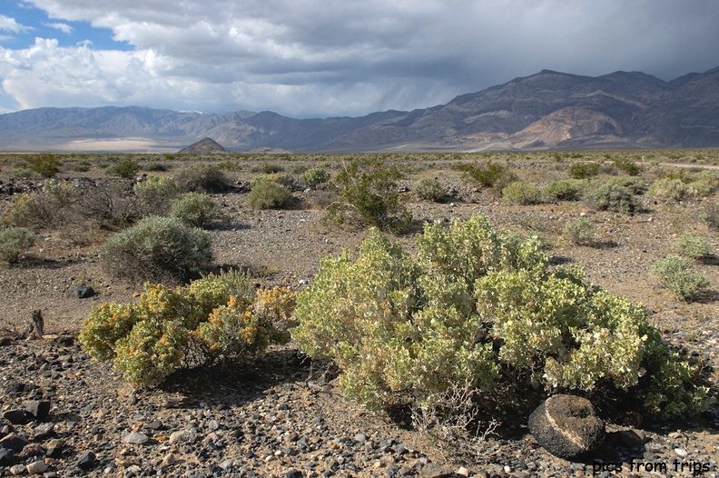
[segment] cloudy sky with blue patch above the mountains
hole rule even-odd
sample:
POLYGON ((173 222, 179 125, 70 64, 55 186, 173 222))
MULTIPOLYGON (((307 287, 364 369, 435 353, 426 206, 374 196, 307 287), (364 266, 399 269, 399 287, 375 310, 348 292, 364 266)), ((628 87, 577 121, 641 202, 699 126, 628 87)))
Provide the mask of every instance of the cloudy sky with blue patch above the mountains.
POLYGON ((361 116, 543 69, 719 66, 717 0, 0 0, 0 113, 361 116))

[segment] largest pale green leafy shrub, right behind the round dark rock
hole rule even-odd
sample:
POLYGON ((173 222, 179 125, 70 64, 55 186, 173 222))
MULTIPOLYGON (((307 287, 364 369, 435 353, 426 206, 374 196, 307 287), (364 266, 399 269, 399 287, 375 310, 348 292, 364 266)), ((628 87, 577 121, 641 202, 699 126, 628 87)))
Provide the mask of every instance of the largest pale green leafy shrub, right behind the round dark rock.
POLYGON ((508 242, 476 216, 427 224, 417 248, 412 259, 373 229, 356 259, 326 257, 298 298, 292 337, 332 360, 360 403, 428 403, 458 383, 492 411, 557 392, 629 393, 667 415, 711 403, 700 367, 671 354, 641 305, 587 284, 579 268, 550 268, 537 238, 508 242), (685 371, 671 389, 657 382, 667 366, 685 371))

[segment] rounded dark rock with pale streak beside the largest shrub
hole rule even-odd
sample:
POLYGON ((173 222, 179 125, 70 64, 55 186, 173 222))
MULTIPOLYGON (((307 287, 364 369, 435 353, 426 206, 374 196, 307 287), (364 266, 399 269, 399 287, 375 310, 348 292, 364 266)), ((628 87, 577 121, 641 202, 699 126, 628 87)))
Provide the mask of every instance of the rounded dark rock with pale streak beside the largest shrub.
POLYGON ((547 452, 570 460, 604 442, 605 424, 592 403, 573 395, 554 395, 529 415, 529 431, 547 452))

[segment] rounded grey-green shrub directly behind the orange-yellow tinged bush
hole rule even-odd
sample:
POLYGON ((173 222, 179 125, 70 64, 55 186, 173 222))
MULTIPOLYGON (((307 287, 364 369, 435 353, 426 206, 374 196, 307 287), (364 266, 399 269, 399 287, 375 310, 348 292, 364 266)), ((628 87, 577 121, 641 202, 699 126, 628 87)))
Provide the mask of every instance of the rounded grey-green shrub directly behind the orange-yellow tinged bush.
POLYGON ((100 248, 108 273, 131 280, 182 280, 212 262, 210 238, 176 217, 147 216, 100 248))

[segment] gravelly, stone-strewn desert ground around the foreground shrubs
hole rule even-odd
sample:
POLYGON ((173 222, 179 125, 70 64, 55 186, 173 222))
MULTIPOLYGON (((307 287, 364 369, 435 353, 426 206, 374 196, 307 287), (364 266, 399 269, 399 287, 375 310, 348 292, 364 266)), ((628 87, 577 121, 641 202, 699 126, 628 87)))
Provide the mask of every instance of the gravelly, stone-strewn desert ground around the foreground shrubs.
MULTIPOLYGON (((719 233, 697 219, 699 202, 646 200, 646 211, 635 215, 596 213, 582 203, 505 206, 456 172, 425 174, 438 175, 456 194, 434 204, 407 193, 418 230, 425 220, 484 213, 498 227, 545 235, 557 262, 584 265, 595 284, 646 304, 666 340, 714 367, 710 375, 719 384, 717 286, 686 304, 648 273, 679 234, 704 235, 717 247, 719 233), (564 224, 579 214, 595 219, 598 245, 566 241, 564 224)), ((266 286, 300 290, 321 257, 356 248, 366 234, 323 223, 318 191, 296 192, 296 207, 286 211, 251 210, 245 197, 241 189, 215 195, 231 217, 212 231, 216 263, 241 265, 266 286)), ((547 453, 525 422, 508 416, 496 428, 488 418, 474 453, 461 443, 452 451, 409 429, 401 416, 343 399, 292 344, 241 370, 182 373, 159 390, 133 390, 112 366, 90 360, 74 335, 93 306, 132 301, 140 286, 103 273, 92 247, 70 248, 59 233, 45 237, 34 260, 0 269, 0 449, 13 450, 0 452, 0 476, 719 476, 716 407, 689 421, 609 423, 606 444, 584 462, 547 453), (73 288, 79 284, 96 294, 79 299, 73 288), (34 309, 43 311, 52 335, 16 339, 34 309)), ((396 239, 410 246, 411 236, 396 239)), ((696 267, 719 284, 715 263, 696 267)))

